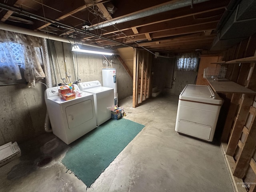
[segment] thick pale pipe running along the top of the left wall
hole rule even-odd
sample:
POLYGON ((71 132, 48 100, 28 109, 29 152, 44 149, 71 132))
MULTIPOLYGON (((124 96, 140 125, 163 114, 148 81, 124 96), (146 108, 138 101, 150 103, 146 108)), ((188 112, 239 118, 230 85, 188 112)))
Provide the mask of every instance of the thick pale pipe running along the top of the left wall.
POLYGON ((40 37, 40 38, 46 38, 46 39, 50 39, 50 40, 60 41, 60 42, 64 42, 64 43, 83 44, 83 45, 88 45, 88 46, 102 48, 100 46, 96 46, 96 45, 92 45, 92 44, 86 44, 86 43, 84 43, 82 41, 75 41, 73 39, 62 38, 62 37, 59 37, 59 36, 54 36, 54 35, 51 35, 51 34, 46 34, 46 33, 39 32, 39 31, 33 31, 33 30, 30 30, 30 29, 16 27, 16 26, 4 24, 4 23, 0 24, 0 29, 1 30, 6 30, 6 31, 11 31, 11 32, 16 32, 16 33, 21 33, 21 34, 26 34, 26 35, 30 35, 30 36, 35 36, 35 37, 40 37))

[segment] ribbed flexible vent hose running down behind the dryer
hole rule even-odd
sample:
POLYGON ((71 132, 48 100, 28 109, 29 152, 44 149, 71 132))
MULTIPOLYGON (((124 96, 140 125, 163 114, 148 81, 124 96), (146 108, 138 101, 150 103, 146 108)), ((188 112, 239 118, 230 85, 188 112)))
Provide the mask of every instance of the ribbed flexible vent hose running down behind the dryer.
MULTIPOLYGON (((44 65, 45 82, 47 87, 50 88, 52 87, 52 75, 51 75, 47 40, 45 38, 41 38, 41 45, 42 45, 42 58, 43 58, 43 65, 44 65)), ((49 114, 47 111, 46 111, 45 120, 44 120, 44 130, 48 133, 52 132, 52 129, 50 128, 49 114)))

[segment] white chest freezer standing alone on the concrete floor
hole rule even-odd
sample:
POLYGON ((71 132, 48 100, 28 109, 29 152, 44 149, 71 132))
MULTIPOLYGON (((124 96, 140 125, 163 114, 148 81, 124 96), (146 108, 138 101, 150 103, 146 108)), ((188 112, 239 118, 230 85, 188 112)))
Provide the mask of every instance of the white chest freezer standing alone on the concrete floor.
POLYGON ((175 130, 211 142, 222 103, 210 86, 186 85, 179 96, 175 130))

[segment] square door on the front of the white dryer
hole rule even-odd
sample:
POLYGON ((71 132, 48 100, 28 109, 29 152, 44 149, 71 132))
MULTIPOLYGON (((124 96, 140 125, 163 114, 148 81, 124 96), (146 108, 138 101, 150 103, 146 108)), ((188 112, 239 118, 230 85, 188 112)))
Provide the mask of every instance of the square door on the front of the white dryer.
POLYGON ((82 101, 66 107, 68 128, 74 129, 93 118, 92 100, 82 101))

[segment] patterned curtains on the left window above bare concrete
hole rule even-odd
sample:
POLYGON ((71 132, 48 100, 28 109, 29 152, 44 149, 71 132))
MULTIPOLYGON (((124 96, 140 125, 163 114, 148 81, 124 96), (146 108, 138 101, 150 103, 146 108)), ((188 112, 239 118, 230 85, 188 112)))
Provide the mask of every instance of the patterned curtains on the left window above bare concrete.
POLYGON ((45 77, 40 47, 39 38, 0 30, 0 81, 17 82, 22 79, 22 68, 26 81, 35 86, 37 80, 45 77))

